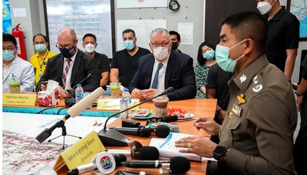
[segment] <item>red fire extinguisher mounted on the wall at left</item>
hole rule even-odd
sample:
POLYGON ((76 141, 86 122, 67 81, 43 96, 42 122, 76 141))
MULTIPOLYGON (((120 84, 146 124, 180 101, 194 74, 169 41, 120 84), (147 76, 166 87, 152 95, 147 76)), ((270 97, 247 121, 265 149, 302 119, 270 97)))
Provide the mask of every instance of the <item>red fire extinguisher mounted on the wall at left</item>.
POLYGON ((17 55, 18 57, 24 59, 27 61, 27 54, 26 54, 26 47, 25 47, 25 40, 23 36, 23 32, 20 31, 21 27, 19 27, 20 24, 15 26, 12 30, 12 35, 16 38, 17 40, 17 55))

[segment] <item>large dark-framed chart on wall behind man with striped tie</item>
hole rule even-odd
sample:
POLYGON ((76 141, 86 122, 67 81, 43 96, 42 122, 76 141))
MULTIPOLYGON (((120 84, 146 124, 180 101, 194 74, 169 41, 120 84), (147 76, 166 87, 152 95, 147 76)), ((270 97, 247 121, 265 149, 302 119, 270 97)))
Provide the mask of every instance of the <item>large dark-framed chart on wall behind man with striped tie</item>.
POLYGON ((84 51, 83 36, 90 33, 97 37, 96 51, 112 58, 115 52, 113 0, 44 0, 44 8, 52 52, 59 53, 55 47, 59 30, 70 27, 76 32, 80 50, 84 51))

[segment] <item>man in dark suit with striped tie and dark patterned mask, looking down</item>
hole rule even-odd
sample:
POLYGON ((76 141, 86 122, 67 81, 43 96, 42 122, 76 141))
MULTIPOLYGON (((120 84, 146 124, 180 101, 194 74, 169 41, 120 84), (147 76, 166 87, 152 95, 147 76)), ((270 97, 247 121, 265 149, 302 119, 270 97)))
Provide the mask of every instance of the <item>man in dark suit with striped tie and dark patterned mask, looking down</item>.
POLYGON ((85 54, 77 48, 78 39, 76 33, 71 28, 63 28, 57 35, 56 47, 60 54, 51 57, 46 66, 46 70, 36 85, 36 91, 46 90, 47 86, 41 81, 54 80, 59 82, 56 88, 63 98, 70 98, 73 92, 69 91, 90 73, 92 74, 83 81, 84 92, 92 92, 99 87, 98 71, 96 59, 85 54))

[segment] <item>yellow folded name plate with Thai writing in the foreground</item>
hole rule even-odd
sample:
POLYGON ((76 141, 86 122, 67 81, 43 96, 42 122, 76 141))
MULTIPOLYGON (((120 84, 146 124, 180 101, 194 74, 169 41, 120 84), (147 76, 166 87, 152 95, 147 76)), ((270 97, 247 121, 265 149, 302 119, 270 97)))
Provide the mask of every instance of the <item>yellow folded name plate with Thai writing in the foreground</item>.
POLYGON ((62 152, 53 168, 57 171, 65 164, 69 170, 72 170, 80 165, 90 163, 96 154, 104 150, 105 148, 97 133, 92 131, 86 137, 62 152))

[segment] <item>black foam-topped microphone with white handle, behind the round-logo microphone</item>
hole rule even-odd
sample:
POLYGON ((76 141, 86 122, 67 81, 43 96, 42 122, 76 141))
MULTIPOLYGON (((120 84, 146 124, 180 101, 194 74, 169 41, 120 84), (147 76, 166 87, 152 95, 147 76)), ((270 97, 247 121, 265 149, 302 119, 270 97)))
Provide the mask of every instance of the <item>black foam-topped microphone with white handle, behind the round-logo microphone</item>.
POLYGON ((109 149, 108 153, 114 154, 124 154, 126 156, 131 156, 133 159, 140 160, 158 160, 159 151, 154 146, 143 146, 140 150, 119 150, 119 149, 109 149))

